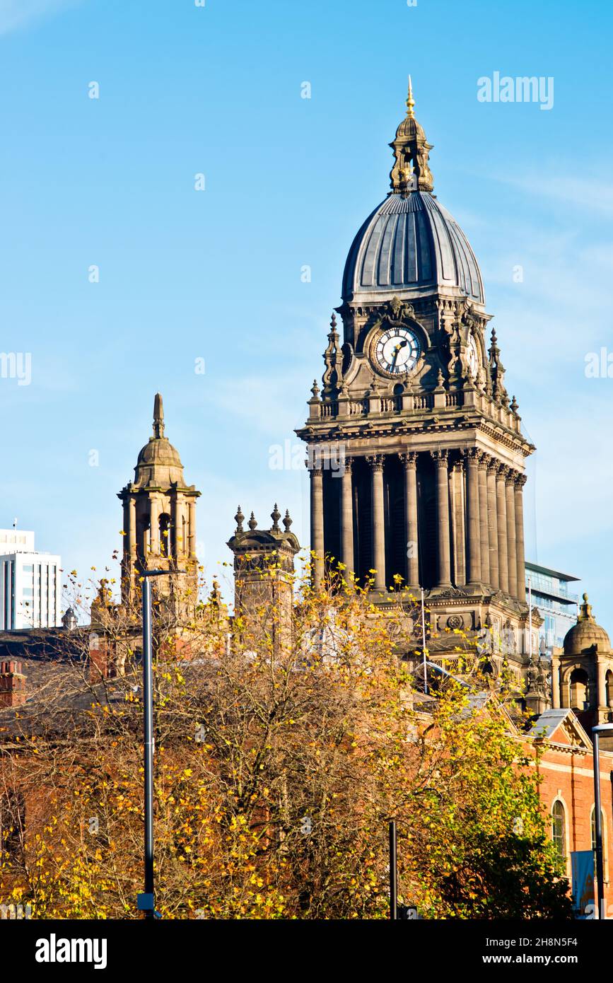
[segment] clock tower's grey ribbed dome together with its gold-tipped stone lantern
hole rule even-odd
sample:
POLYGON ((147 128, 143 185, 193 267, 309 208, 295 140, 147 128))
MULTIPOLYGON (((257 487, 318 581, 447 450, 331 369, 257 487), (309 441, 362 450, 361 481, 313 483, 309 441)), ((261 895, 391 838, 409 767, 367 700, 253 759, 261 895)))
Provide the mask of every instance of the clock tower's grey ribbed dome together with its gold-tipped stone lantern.
POLYGON ((414 113, 411 77, 407 116, 390 144, 392 191, 366 218, 343 274, 343 300, 381 303, 446 292, 485 303, 483 281, 464 232, 436 198, 423 128, 414 113))

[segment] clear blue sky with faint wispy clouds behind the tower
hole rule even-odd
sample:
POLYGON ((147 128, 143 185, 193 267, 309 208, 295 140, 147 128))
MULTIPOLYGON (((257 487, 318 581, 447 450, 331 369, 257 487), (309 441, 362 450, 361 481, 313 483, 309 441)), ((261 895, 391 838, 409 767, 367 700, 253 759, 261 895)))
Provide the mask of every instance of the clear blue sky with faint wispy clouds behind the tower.
POLYGON ((103 566, 159 389, 208 574, 239 502, 262 525, 289 507, 306 544, 306 470, 270 447, 304 422, 411 72, 538 447, 530 555, 613 629, 613 378, 585 377, 613 351, 612 21, 593 0, 0 0, 0 350, 32 360, 28 386, 0 379, 0 525, 103 566), (552 77, 553 108, 479 102, 496 71, 552 77))

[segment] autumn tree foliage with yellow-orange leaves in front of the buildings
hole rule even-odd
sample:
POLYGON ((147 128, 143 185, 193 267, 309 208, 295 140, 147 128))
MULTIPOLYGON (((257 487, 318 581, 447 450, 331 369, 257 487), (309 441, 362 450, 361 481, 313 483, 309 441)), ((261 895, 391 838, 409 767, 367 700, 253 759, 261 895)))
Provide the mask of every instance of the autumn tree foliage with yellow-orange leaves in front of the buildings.
MULTIPOLYGON (((162 914, 386 917, 394 817, 401 894, 425 916, 570 917, 533 760, 495 697, 476 699, 474 659, 469 685, 447 676, 426 698, 401 657, 415 645, 405 592, 381 612, 354 584, 314 591, 307 573, 289 636, 272 630, 284 613, 270 604, 231 624, 217 592, 180 635, 157 610, 162 914)), ((109 611, 106 644, 123 653, 114 678, 91 676, 82 634, 32 708, 5 714, 2 781, 28 818, 20 856, 0 863, 0 900, 28 902, 35 917, 135 917, 134 617, 109 611)))

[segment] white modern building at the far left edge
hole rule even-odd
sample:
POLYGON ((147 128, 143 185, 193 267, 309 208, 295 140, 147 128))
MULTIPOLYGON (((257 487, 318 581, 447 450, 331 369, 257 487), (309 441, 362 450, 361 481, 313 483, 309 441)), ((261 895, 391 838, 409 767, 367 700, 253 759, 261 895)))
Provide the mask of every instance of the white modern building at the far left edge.
POLYGON ((34 550, 34 534, 0 529, 0 631, 61 624, 61 559, 34 550))

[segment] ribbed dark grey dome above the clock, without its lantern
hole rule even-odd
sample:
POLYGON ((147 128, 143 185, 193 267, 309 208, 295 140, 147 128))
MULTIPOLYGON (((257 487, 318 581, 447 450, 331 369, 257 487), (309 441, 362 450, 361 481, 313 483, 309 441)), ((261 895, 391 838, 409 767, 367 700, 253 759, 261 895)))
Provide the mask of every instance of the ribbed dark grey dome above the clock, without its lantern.
POLYGON ((377 303, 434 291, 485 303, 483 281, 464 232, 424 191, 391 194, 365 220, 343 274, 343 300, 377 303))

